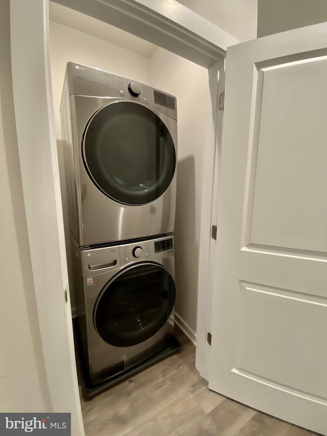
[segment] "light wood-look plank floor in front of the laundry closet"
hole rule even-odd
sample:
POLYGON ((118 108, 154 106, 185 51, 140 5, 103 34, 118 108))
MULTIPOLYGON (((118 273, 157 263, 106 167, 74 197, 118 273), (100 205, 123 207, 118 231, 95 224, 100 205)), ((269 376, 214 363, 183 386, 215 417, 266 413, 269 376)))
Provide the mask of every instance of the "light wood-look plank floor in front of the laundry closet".
POLYGON ((209 391, 195 369, 195 347, 178 333, 178 353, 82 402, 86 436, 309 436, 209 391))

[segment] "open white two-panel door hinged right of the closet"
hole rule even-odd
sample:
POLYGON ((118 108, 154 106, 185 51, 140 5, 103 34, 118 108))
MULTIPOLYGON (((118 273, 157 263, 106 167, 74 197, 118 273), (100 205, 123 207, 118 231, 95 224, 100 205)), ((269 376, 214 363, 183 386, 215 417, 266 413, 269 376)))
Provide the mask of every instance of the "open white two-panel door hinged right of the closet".
POLYGON ((327 24, 227 50, 209 388, 327 435, 327 24))

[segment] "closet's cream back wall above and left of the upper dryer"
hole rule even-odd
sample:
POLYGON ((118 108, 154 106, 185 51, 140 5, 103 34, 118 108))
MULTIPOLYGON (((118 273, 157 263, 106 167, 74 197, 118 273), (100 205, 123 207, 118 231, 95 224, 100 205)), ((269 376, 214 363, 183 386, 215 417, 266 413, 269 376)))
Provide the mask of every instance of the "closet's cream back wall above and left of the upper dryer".
POLYGON ((57 139, 61 139, 60 100, 67 62, 149 82, 149 58, 53 21, 50 21, 50 60, 57 139))

